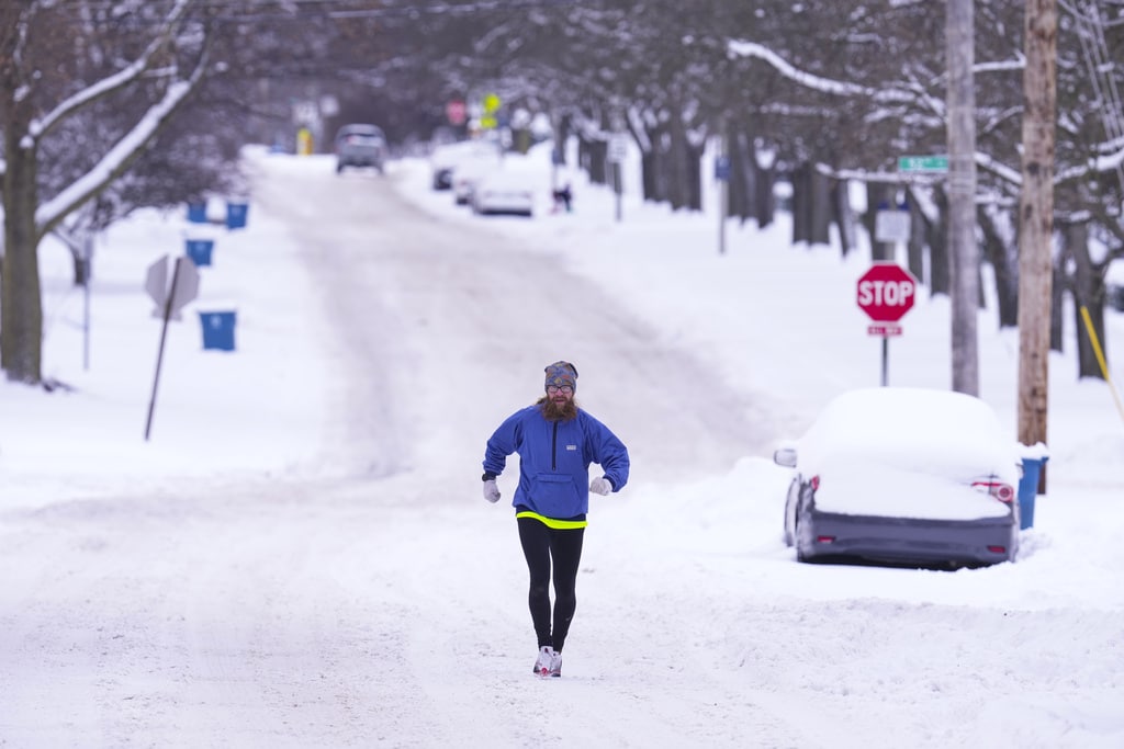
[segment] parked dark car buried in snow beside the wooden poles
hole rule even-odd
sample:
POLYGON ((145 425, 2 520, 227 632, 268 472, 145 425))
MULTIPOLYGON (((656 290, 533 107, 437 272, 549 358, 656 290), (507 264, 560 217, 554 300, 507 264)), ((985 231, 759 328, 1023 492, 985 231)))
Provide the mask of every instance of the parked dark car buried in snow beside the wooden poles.
POLYGON ((851 391, 773 460, 794 469, 785 542, 800 561, 981 566, 1017 554, 1017 445, 978 398, 851 391))

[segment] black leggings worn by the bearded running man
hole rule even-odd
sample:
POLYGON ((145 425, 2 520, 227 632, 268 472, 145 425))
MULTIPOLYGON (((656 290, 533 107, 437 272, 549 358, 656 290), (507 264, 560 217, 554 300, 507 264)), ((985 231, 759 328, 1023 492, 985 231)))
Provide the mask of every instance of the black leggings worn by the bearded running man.
POLYGON ((535 625, 538 647, 549 645, 562 652, 570 632, 573 612, 578 609, 578 567, 581 564, 581 541, 584 528, 555 530, 535 518, 517 518, 519 542, 531 573, 527 604, 535 625), (551 631, 551 559, 554 560, 554 630, 551 631))

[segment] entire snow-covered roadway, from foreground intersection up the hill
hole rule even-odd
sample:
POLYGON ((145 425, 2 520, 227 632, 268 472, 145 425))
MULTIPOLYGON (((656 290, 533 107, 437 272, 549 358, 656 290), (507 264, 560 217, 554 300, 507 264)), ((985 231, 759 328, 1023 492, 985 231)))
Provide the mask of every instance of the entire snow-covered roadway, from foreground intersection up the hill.
POLYGON ((776 481, 776 415, 611 280, 422 211, 402 172, 263 164, 254 218, 317 287, 285 351, 328 373, 292 393, 325 392, 317 469, 7 510, 0 746, 1118 746, 1118 610, 1028 604, 1057 581, 1033 544, 975 573, 797 565, 782 486, 731 493, 776 481), (544 682, 515 466, 498 505, 479 474, 559 358, 633 477, 595 499, 544 682))

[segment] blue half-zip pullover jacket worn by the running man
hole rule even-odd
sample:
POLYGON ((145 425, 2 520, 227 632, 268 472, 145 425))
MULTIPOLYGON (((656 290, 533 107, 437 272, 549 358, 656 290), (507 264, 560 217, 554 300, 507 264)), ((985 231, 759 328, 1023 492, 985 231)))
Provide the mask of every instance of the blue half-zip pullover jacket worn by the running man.
POLYGON ((628 482, 627 448, 581 409, 569 421, 547 421, 538 405, 516 411, 489 438, 484 473, 504 473, 513 453, 519 455, 519 486, 511 504, 546 518, 584 518, 591 463, 601 466, 614 492, 628 482))

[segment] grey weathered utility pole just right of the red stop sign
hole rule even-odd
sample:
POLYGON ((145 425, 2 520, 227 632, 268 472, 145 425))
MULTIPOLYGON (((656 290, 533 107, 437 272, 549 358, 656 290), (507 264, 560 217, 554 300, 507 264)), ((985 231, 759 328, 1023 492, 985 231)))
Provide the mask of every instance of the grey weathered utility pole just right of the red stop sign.
POLYGON ((976 37, 973 0, 948 0, 949 249, 952 390, 979 395, 979 245, 976 244, 976 37))

